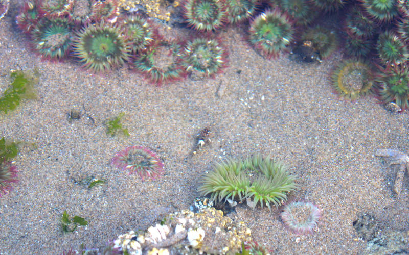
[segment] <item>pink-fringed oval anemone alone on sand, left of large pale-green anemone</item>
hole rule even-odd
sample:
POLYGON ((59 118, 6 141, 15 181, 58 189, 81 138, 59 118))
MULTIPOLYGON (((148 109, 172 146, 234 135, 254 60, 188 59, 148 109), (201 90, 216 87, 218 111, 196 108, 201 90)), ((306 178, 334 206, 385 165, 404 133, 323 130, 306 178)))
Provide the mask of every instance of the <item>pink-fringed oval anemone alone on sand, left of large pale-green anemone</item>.
POLYGON ((112 158, 112 165, 131 173, 138 173, 142 181, 155 180, 163 173, 163 163, 150 149, 143 146, 130 146, 117 152, 112 158))

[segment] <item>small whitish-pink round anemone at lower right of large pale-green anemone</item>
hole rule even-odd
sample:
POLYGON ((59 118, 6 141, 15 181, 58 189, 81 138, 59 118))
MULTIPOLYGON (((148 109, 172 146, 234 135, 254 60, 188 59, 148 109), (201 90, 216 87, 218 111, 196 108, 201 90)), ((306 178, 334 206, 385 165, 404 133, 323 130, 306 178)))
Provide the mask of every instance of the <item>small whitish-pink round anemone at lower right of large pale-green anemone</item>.
POLYGON ((313 233, 321 218, 321 210, 310 202, 294 201, 280 214, 284 224, 297 234, 313 233))

